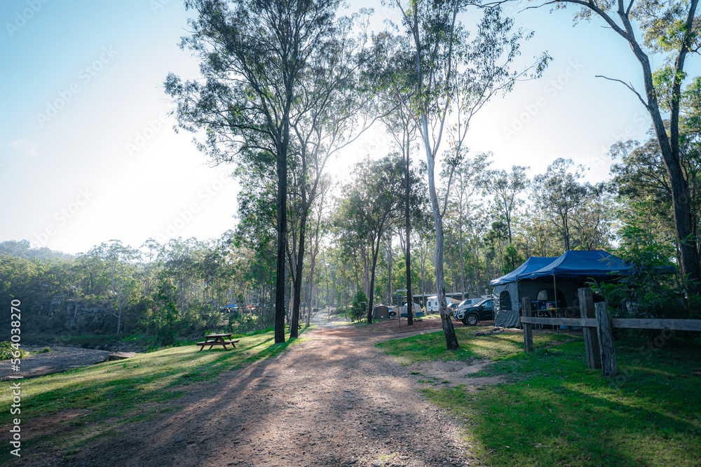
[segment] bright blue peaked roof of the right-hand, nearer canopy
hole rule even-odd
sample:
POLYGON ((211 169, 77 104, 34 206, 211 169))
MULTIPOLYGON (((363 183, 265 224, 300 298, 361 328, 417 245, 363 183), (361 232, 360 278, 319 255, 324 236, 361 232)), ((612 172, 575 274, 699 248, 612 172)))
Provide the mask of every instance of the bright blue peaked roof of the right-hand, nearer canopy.
POLYGON ((552 263, 538 270, 516 274, 516 279, 537 279, 538 277, 573 278, 604 277, 611 274, 625 275, 634 272, 632 265, 603 250, 569 250, 552 263))

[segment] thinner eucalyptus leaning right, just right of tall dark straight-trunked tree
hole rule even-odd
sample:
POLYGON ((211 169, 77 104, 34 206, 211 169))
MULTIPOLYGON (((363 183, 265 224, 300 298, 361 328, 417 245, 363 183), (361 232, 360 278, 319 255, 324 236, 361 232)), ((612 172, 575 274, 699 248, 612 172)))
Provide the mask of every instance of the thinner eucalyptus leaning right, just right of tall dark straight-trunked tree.
POLYGON ((309 57, 301 75, 304 85, 292 105, 297 165, 294 193, 299 218, 294 248, 288 249, 294 284, 290 337, 297 337, 308 214, 322 192, 327 163, 382 115, 376 109, 374 93, 361 79, 368 16, 369 11, 362 10, 334 21, 323 46, 309 57))

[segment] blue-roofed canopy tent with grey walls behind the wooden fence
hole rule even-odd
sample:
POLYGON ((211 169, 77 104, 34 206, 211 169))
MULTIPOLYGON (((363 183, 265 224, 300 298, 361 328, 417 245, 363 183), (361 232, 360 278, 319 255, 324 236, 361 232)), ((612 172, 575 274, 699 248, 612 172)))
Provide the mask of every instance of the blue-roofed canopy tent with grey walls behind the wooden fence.
POLYGON ((495 303, 496 325, 519 326, 520 301, 524 297, 552 302, 555 309, 578 313, 578 288, 590 279, 613 280, 632 272, 632 265, 602 250, 569 250, 559 258, 531 257, 516 270, 491 281, 495 286, 494 300, 498 300, 497 296, 501 299, 498 306, 495 303), (540 267, 533 267, 538 263, 540 267))

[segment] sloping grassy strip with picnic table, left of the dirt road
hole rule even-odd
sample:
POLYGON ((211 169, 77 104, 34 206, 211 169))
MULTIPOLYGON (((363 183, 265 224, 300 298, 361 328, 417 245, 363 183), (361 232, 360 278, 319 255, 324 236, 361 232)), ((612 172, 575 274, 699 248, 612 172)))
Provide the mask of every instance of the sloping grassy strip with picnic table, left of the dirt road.
MULTIPOLYGON (((177 399, 192 384, 275 356, 288 345, 307 340, 302 333, 304 329, 299 338, 283 344, 274 344, 274 334, 268 332, 240 337, 233 350, 175 347, 22 380, 22 412, 15 415, 22 419, 22 453, 61 449, 69 455, 123 426, 178 410, 177 399)), ((11 383, 0 385, 5 386, 0 412, 9 414, 11 383)))

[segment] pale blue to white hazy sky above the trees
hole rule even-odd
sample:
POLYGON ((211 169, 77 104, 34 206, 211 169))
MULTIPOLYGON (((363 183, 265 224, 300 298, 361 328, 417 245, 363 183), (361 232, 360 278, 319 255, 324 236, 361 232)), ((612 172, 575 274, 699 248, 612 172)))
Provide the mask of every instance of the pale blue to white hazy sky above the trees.
MULTIPOLYGON (((622 85, 594 76, 642 90, 639 64, 599 21, 573 27, 573 9, 521 8, 506 12, 536 32, 522 59, 547 50, 554 60, 543 78, 479 113, 468 146, 493 151, 494 167, 529 165, 531 175, 573 158, 602 180, 608 147, 644 139, 650 119, 622 85)), ((236 225, 231 167, 210 167, 193 134, 175 133, 166 116, 168 72, 198 74, 177 46, 191 15, 177 0, 1 3, 0 241, 78 253, 109 239, 138 247, 149 237, 219 237, 236 225)), ((374 29, 393 16, 377 8, 374 29)), ((689 64, 698 74, 697 60, 689 64)), ((332 169, 342 176, 344 165, 386 153, 387 141, 378 127, 332 169)))

